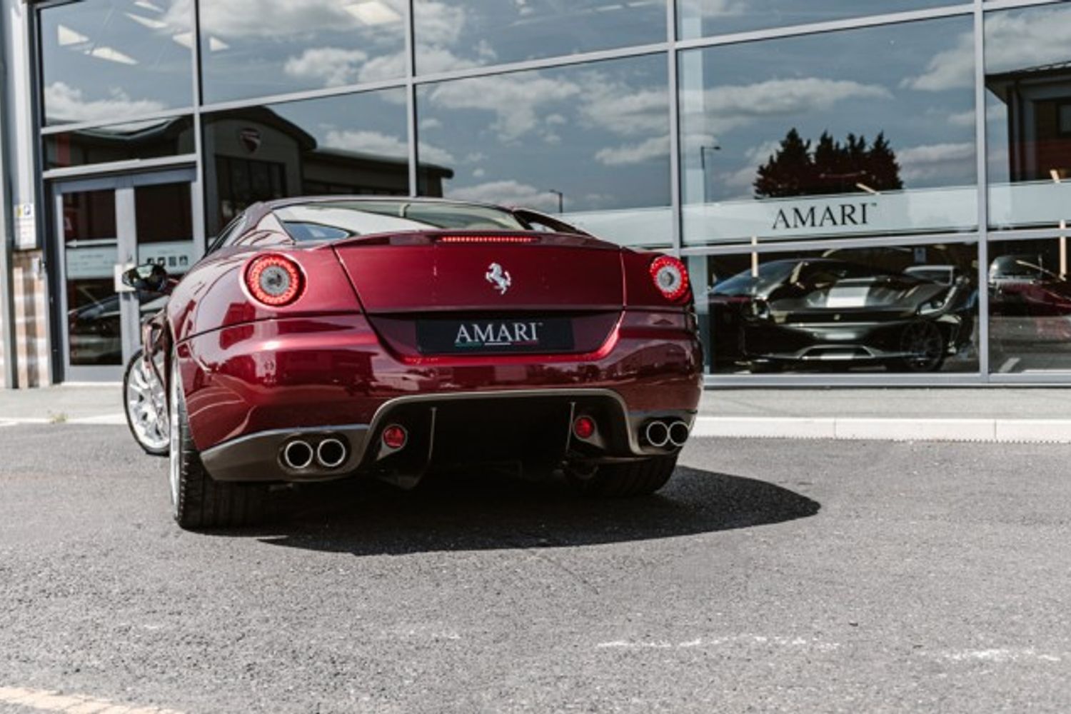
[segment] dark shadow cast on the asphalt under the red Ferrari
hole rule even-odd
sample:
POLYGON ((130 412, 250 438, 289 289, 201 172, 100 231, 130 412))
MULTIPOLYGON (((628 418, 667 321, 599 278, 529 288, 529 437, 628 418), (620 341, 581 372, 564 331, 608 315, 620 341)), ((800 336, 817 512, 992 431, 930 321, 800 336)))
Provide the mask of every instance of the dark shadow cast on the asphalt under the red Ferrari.
POLYGON ((560 481, 440 474, 414 491, 377 482, 286 493, 281 522, 221 533, 289 548, 404 555, 570 547, 710 533, 813 516, 821 507, 774 484, 680 467, 655 496, 593 500, 560 481))

